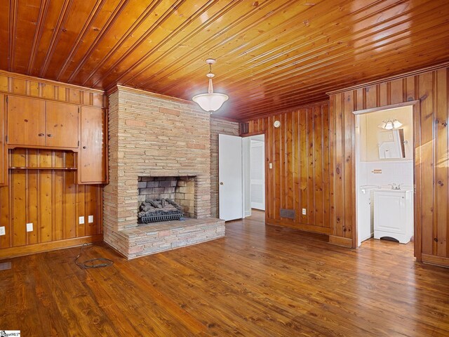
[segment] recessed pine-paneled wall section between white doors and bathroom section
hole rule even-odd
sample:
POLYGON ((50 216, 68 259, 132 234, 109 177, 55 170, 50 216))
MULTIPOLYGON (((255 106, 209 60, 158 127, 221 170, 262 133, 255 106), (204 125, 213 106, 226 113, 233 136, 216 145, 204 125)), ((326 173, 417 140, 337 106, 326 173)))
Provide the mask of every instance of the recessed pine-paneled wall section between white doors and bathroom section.
POLYGON ((267 223, 331 234, 328 107, 320 103, 249 122, 248 134, 265 133, 267 223), (281 209, 293 209, 295 218, 281 217, 281 209))

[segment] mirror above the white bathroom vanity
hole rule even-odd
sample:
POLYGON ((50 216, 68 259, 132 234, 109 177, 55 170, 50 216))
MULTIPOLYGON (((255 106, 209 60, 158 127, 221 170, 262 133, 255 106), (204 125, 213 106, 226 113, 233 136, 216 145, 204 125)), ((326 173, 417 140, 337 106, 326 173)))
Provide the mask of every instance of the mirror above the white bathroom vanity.
POLYGON ((404 131, 402 128, 377 132, 379 159, 406 158, 404 131))

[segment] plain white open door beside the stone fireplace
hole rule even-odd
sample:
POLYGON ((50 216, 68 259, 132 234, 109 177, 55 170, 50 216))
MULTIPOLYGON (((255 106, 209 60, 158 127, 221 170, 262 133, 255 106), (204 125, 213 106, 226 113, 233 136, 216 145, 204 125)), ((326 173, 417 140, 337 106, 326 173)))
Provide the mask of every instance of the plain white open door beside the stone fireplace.
POLYGON ((218 135, 220 219, 243 218, 241 137, 218 135))

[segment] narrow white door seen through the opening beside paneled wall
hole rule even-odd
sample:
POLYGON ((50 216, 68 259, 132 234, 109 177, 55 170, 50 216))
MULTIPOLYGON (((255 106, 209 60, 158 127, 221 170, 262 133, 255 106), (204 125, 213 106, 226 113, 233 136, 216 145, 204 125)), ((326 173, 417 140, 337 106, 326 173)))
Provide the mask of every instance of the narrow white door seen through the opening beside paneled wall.
POLYGON ((264 142, 251 140, 250 179, 251 208, 265 210, 265 163, 264 142))

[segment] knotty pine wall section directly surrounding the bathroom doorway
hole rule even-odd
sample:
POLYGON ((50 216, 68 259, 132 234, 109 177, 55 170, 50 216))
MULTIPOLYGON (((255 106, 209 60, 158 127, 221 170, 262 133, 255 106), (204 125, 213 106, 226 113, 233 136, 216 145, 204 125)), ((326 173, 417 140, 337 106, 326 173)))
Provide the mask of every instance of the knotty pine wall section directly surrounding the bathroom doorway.
POLYGON ((448 68, 330 95, 334 235, 356 242, 354 110, 419 100, 414 106, 415 255, 449 257, 448 68), (421 239, 422 238, 422 239, 421 239))

